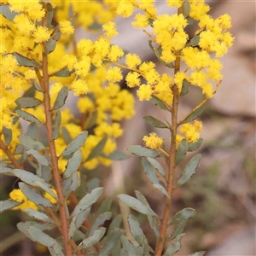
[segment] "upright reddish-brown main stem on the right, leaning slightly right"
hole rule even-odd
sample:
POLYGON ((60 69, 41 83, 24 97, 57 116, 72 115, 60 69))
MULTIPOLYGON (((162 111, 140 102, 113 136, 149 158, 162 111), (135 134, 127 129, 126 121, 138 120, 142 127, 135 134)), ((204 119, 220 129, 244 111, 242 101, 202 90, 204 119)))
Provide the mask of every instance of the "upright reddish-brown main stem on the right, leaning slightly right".
MULTIPOLYGON (((178 14, 180 14, 182 8, 178 9, 178 14)), ((180 70, 180 51, 177 51, 177 58, 175 61, 174 74, 180 70)), ((177 136, 177 107, 178 107, 178 89, 177 85, 174 84, 172 87, 173 101, 172 101, 172 136, 171 136, 171 148, 170 148, 170 158, 169 158, 169 172, 167 177, 167 192, 169 197, 166 197, 166 206, 164 211, 164 216, 162 218, 161 228, 160 228, 160 238, 156 245, 156 250, 154 256, 162 255, 165 241, 166 241, 166 230, 168 226, 168 220, 170 216, 170 211, 172 207, 172 192, 173 192, 173 179, 176 168, 176 136, 177 136)))

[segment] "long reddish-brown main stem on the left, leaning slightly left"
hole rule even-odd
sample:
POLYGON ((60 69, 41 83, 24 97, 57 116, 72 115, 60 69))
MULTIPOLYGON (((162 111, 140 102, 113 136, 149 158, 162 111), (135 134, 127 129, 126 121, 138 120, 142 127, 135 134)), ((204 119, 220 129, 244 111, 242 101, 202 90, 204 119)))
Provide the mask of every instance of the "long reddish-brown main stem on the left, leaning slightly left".
MULTIPOLYGON (((43 26, 47 25, 47 15, 44 17, 43 26)), ((52 176, 55 182, 55 189, 57 192, 57 196, 59 199, 60 205, 60 216, 61 216, 61 226, 63 230, 62 238, 63 244, 65 247, 65 255, 72 256, 72 248, 70 245, 70 241, 68 238, 68 225, 67 225, 67 213, 65 207, 65 198, 62 191, 62 179, 58 167, 58 158, 56 155, 55 149, 55 140, 52 137, 52 123, 51 123, 51 110, 50 110, 50 98, 49 98, 49 75, 48 75, 48 55, 45 52, 46 49, 46 42, 43 43, 44 53, 43 53, 43 84, 41 87, 44 90, 44 113, 46 118, 46 130, 47 130, 47 137, 49 142, 49 154, 51 157, 51 168, 52 168, 52 176)))

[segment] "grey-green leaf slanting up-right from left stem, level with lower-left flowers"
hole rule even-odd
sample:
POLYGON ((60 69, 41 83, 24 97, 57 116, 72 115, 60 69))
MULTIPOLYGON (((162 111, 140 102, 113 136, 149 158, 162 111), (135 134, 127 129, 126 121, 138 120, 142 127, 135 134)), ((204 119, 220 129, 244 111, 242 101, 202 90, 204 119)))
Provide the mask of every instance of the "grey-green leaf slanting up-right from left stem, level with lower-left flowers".
POLYGON ((73 210, 73 216, 78 215, 79 212, 84 212, 85 209, 93 205, 102 195, 103 188, 93 189, 90 193, 84 195, 79 201, 79 204, 73 210))

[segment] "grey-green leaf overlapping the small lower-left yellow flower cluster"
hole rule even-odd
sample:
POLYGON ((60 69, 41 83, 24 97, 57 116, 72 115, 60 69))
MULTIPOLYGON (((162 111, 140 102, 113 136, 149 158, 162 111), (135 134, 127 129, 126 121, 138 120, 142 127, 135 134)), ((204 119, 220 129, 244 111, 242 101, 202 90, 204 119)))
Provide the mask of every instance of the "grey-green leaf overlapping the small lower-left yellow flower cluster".
POLYGON ((19 188, 26 195, 26 198, 38 206, 43 207, 54 207, 46 198, 39 195, 31 186, 26 185, 26 183, 19 183, 19 188))

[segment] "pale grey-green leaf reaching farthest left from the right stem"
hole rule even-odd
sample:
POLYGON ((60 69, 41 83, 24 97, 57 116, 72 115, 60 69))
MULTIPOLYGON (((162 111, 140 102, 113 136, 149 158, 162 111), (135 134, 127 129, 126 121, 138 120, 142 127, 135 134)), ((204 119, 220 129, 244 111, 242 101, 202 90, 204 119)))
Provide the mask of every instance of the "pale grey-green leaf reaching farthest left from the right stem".
POLYGON ((138 201, 136 198, 131 197, 130 195, 119 194, 117 195, 120 201, 123 201, 125 205, 131 207, 132 209, 136 210, 137 212, 141 212, 146 215, 153 215, 157 216, 157 214, 148 206, 143 205, 141 201, 138 201))

